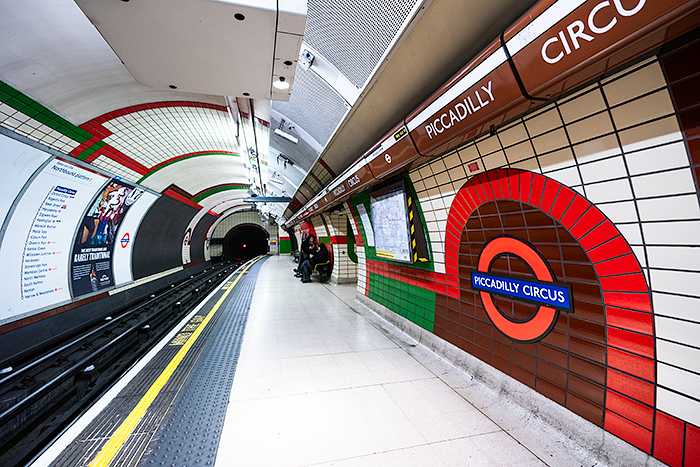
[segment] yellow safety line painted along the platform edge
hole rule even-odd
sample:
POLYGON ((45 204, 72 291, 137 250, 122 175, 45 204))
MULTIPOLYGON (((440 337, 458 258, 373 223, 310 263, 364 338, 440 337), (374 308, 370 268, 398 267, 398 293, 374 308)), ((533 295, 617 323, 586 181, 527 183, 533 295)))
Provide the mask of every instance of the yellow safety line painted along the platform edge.
POLYGON ((126 419, 122 422, 117 431, 114 432, 114 435, 110 438, 107 444, 104 445, 97 457, 93 459, 93 461, 90 463, 90 467, 105 467, 108 466, 110 462, 112 462, 114 456, 117 455, 122 445, 126 442, 126 439, 134 431, 134 428, 136 428, 136 425, 138 425, 138 423, 141 421, 141 418, 151 406, 156 396, 158 396, 160 391, 163 389, 163 386, 165 386, 168 380, 170 380, 170 377, 175 372, 175 369, 178 367, 185 355, 187 355, 187 352, 190 350, 190 347, 192 347, 194 342, 197 340, 199 335, 206 327, 207 323, 214 316, 214 314, 219 309, 219 307, 226 299, 228 294, 231 292, 231 290, 233 290, 233 287, 236 285, 238 280, 241 277, 243 277, 243 273, 246 271, 246 269, 255 264, 256 261, 262 258, 264 258, 264 256, 256 258, 252 263, 247 264, 241 270, 241 272, 238 274, 238 277, 236 277, 236 280, 233 281, 233 284, 231 284, 228 290, 226 290, 226 292, 221 296, 221 298, 219 298, 219 301, 216 302, 216 305, 214 305, 209 314, 207 314, 206 318, 202 320, 197 330, 192 333, 189 339, 187 339, 187 342, 185 342, 185 344, 182 346, 182 348, 180 348, 178 353, 170 361, 165 370, 163 370, 160 376, 158 376, 158 379, 151 385, 151 387, 148 389, 148 391, 139 401, 139 403, 136 404, 134 410, 131 411, 129 416, 126 417, 126 419))

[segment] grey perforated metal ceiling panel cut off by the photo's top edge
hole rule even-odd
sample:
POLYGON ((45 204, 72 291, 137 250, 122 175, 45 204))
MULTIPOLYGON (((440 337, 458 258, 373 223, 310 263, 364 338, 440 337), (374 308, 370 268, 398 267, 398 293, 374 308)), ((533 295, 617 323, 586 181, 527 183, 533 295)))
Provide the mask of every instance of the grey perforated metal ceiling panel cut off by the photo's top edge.
POLYGON ((309 0, 304 41, 361 88, 416 3, 309 0))

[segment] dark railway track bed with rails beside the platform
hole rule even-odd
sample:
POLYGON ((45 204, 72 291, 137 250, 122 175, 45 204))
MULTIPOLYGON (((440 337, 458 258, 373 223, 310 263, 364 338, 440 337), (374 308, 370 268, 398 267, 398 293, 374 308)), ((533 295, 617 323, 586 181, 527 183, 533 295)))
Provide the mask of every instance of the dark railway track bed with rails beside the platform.
POLYGON ((0 465, 26 465, 240 264, 208 268, 0 362, 0 465))

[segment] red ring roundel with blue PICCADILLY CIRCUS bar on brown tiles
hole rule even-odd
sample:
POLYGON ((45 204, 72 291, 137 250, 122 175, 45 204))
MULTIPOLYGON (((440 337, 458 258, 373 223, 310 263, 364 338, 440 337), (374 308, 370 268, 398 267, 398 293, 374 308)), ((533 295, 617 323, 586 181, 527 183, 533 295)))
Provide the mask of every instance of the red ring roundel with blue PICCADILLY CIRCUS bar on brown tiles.
POLYGON ((536 342, 546 336, 554 327, 560 310, 573 313, 571 287, 556 283, 547 260, 532 245, 516 237, 504 235, 486 242, 479 255, 477 270, 471 272, 471 286, 479 291, 493 325, 519 342, 536 342), (491 273, 494 261, 506 255, 522 260, 535 278, 491 273), (537 309, 527 319, 515 319, 498 309, 494 295, 532 303, 537 309))

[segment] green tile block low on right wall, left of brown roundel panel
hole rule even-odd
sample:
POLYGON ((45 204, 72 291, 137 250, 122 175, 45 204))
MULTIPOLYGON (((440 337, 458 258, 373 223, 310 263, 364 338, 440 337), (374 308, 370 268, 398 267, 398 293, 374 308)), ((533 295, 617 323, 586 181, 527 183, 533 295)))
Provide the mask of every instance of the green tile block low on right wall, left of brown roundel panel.
POLYGON ((433 332, 435 292, 370 273, 369 298, 433 332))

